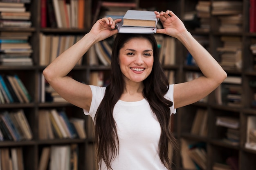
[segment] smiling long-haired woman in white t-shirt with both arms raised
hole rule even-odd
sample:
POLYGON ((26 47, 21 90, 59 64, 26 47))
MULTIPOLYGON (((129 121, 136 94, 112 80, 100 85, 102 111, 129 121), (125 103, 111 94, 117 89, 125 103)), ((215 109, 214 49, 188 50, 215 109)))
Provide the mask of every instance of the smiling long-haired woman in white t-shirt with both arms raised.
POLYGON ((115 24, 121 20, 110 17, 98 20, 43 71, 63 98, 94 120, 100 169, 171 169, 168 142, 175 146, 168 128, 171 114, 204 98, 227 77, 173 12, 155 11, 155 15, 163 24, 157 33, 179 39, 204 76, 168 85, 153 35, 117 34, 115 24), (108 87, 85 85, 67 76, 92 45, 115 34, 108 87))

